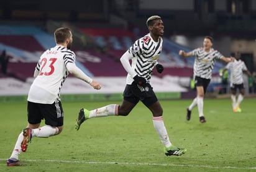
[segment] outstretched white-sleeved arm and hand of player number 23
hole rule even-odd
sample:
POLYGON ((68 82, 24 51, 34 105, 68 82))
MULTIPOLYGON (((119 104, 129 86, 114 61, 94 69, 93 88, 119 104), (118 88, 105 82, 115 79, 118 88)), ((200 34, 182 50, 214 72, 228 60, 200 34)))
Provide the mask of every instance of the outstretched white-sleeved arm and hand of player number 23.
POLYGON ((101 89, 101 85, 98 82, 91 79, 88 75, 83 73, 83 71, 81 71, 80 68, 78 68, 78 66, 75 65, 75 63, 67 63, 66 69, 70 71, 70 73, 74 75, 76 78, 79 78, 85 81, 86 83, 90 84, 94 89, 101 89))

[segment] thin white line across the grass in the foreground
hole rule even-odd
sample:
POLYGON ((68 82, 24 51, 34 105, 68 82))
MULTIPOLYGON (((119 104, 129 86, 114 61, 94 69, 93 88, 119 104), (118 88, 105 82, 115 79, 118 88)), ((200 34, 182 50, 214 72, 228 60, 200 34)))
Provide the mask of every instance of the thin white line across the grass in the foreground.
MULTIPOLYGON (((6 161, 6 159, 0 159, 0 161, 6 161)), ((209 166, 209 165, 178 165, 178 164, 160 164, 160 163, 122 163, 122 162, 97 162, 97 161, 69 161, 69 160, 22 160, 22 161, 40 161, 40 162, 55 162, 55 163, 84 163, 84 164, 100 164, 100 165, 151 165, 151 166, 180 166, 180 167, 201 167, 201 168, 217 168, 217 169, 244 169, 244 170, 256 170, 256 166, 253 167, 237 167, 237 166, 209 166)))

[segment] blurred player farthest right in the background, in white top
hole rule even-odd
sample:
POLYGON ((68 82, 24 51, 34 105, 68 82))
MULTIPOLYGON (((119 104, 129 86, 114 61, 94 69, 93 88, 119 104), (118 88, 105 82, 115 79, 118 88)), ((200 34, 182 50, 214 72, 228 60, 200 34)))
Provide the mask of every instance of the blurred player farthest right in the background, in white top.
POLYGON ((246 72, 248 76, 251 76, 250 71, 247 69, 244 61, 240 60, 240 52, 235 52, 235 60, 231 63, 227 63, 223 73, 226 70, 231 71, 231 100, 233 112, 242 112, 240 109, 240 103, 244 99, 244 80, 243 72, 246 72), (239 89, 239 95, 236 98, 236 91, 239 89))

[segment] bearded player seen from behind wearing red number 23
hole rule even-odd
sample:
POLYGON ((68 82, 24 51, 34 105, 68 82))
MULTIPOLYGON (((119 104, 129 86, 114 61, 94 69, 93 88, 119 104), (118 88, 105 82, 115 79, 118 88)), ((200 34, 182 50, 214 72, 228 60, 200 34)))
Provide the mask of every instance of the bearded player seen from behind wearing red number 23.
POLYGON ((60 89, 69 73, 82 79, 94 89, 101 85, 87 76, 75 65, 76 55, 70 50, 73 38, 68 28, 58 28, 54 32, 56 46, 41 55, 34 71, 34 81, 27 98, 27 127, 17 138, 7 166, 20 166, 19 155, 27 150, 32 137, 50 137, 60 134, 63 129, 63 109, 60 89), (45 125, 40 122, 45 119, 45 125))

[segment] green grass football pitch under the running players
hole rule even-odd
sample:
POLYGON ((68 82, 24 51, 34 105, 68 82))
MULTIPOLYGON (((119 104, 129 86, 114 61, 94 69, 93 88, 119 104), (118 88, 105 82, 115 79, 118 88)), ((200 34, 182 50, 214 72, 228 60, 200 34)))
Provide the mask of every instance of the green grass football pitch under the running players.
POLYGON ((165 156, 152 114, 142 103, 127 117, 89 119, 76 131, 81 107, 120 102, 62 102, 62 134, 32 138, 19 156, 24 166, 14 167, 6 160, 27 124, 27 103, 1 102, 0 171, 256 171, 256 99, 245 97, 240 113, 232 112, 230 99, 205 99, 204 124, 197 107, 186 121, 191 101, 160 101, 171 142, 187 149, 182 156, 165 156))

